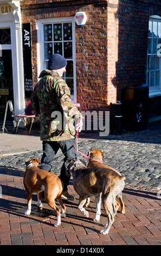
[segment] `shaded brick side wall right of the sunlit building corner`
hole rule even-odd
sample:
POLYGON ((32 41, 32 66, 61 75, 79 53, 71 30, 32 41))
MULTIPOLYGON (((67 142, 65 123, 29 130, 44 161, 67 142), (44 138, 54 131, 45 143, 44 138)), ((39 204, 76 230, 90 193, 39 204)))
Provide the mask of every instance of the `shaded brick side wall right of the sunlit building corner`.
MULTIPOLYGON (((161 16, 161 2, 121 0, 118 5, 118 62, 115 83, 117 99, 121 100, 123 87, 146 83, 147 42, 149 16, 161 16)), ((160 97, 149 99, 149 117, 157 116, 161 109, 160 97)))

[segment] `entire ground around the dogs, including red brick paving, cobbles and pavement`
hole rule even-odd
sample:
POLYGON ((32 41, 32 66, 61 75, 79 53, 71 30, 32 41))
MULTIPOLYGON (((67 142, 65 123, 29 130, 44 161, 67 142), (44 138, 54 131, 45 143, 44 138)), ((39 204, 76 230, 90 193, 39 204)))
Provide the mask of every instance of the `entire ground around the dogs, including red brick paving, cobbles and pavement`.
MULTIPOLYGON (((42 143, 38 133, 31 131, 28 136, 27 131, 21 130, 17 135, 0 133, 0 143, 1 245, 161 245, 160 125, 106 138, 80 135, 80 151, 86 154, 90 149, 101 149, 105 153, 104 163, 126 176, 123 191, 125 214, 117 212, 107 235, 100 234, 102 224, 107 221, 102 208, 100 221, 93 221, 94 198, 88 208, 89 218, 78 210, 79 197, 73 189, 72 179, 69 193, 74 194, 76 200, 64 200, 67 214, 61 219, 60 227, 54 227, 56 215, 46 203, 43 210, 37 211, 35 194, 33 213, 25 216, 24 162, 29 158, 41 159, 42 143)), ((58 151, 52 172, 59 175, 62 163, 63 155, 58 151)))

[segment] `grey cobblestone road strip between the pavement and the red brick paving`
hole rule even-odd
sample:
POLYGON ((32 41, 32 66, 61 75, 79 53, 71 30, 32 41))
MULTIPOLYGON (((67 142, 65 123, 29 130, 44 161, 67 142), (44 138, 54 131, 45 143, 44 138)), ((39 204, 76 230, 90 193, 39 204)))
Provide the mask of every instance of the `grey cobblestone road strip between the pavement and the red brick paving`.
MULTIPOLYGON (((161 132, 152 130, 127 133, 121 136, 101 138, 79 138, 79 150, 87 154, 91 149, 101 149, 105 153, 104 163, 126 176, 126 183, 159 186, 161 182, 161 132)), ((25 168, 24 162, 29 158, 41 160, 42 150, 28 153, 4 156, 0 160, 1 166, 25 168)), ((80 158, 88 163, 88 159, 80 158)), ((61 150, 58 151, 52 172, 59 174, 63 163, 61 150)))

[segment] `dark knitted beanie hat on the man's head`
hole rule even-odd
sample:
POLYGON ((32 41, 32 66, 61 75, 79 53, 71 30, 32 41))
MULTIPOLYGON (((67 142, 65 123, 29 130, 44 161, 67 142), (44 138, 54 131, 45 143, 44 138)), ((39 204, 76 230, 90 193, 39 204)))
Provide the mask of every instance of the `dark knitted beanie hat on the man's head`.
POLYGON ((48 69, 49 70, 55 70, 55 69, 61 69, 64 66, 67 65, 67 60, 62 57, 60 54, 55 53, 51 55, 48 62, 48 69))

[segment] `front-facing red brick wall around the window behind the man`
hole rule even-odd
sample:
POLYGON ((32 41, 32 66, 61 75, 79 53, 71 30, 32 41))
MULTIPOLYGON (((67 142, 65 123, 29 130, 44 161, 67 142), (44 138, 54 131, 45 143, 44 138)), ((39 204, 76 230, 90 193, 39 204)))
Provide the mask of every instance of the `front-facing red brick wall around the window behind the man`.
POLYGON ((22 22, 31 22, 33 78, 37 82, 36 20, 75 16, 85 11, 87 25, 75 30, 76 87, 80 110, 107 106, 107 2, 106 1, 23 1, 22 22), (67 2, 67 3, 66 3, 67 2), (36 5, 35 5, 36 3, 36 5), (81 3, 81 4, 80 4, 81 3), (91 4, 93 3, 93 4, 91 4), (42 8, 43 7, 43 8, 42 8))

